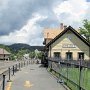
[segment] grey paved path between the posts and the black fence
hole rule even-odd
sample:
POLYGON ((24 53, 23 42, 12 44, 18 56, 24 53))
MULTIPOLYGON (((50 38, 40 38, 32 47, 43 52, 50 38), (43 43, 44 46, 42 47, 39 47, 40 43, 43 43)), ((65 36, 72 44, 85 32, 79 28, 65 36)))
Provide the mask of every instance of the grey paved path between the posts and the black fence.
POLYGON ((6 90, 66 90, 41 65, 32 64, 22 68, 12 77, 6 90))

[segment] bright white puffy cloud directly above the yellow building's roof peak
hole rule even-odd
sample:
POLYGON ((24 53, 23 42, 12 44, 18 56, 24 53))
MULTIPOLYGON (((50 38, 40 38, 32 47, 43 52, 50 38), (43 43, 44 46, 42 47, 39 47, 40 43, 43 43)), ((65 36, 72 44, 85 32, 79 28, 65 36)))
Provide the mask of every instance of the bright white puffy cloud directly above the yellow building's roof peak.
POLYGON ((67 25, 77 25, 85 18, 88 9, 86 0, 67 0, 53 8, 60 22, 67 25))

